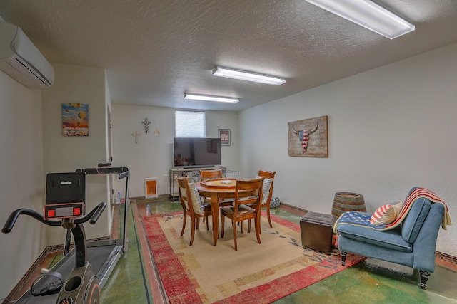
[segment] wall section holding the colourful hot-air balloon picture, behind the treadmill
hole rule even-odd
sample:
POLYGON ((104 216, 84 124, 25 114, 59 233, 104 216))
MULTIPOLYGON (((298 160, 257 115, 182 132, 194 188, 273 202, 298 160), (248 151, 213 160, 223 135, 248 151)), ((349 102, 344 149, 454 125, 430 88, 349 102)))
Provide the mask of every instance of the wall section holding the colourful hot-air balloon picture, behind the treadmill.
MULTIPOLYGON (((54 85, 42 91, 44 172, 74 172, 79 168, 93 168, 100 162, 108 162, 105 71, 62 63, 52 65, 54 85), (62 135, 62 103, 89 104, 89 136, 62 135)), ((86 176, 86 210, 91 211, 101 201, 108 204, 95 225, 84 225, 87 239, 110 234, 108 182, 107 176, 86 176)), ((65 229, 50 227, 46 231, 48 244, 64 242, 65 229)))

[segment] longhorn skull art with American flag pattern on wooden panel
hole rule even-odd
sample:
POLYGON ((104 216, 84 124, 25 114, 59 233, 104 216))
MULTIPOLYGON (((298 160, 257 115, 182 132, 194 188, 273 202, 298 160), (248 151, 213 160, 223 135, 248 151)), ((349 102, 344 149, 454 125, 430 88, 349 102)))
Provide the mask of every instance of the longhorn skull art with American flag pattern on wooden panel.
POLYGON ((327 126, 327 116, 288 122, 288 155, 328 157, 327 126))

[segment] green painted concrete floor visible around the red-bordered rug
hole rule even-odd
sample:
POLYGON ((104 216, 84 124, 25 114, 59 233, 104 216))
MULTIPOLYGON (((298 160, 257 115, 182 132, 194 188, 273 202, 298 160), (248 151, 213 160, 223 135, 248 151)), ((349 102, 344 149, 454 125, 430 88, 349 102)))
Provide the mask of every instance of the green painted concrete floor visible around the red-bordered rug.
MULTIPOLYGON (((146 202, 138 200, 137 204, 146 202)), ((181 205, 178 201, 157 199, 149 200, 147 209, 160 214, 179 211, 181 205)), ((301 215, 282 208, 271 209, 271 213, 296 224, 301 219, 301 215)), ((137 238, 138 233, 144 233, 141 223, 134 223, 134 217, 129 216, 128 227, 129 251, 121 257, 101 291, 101 303, 154 303, 137 238)), ((426 290, 421 290, 418 283, 418 271, 368 258, 275 303, 457 303, 457 272, 436 266, 426 290)))

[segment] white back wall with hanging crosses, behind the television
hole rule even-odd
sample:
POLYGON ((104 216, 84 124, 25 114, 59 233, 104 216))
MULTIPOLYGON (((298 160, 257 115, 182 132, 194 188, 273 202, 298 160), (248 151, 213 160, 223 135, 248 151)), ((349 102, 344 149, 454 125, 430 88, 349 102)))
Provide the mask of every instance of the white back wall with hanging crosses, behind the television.
MULTIPOLYGON (((158 194, 169 193, 169 169, 173 164, 174 109, 112 105, 113 164, 131 170, 130 196, 144 196, 144 179, 157 178, 158 194), (149 133, 141 122, 151 121, 149 133), (154 135, 156 127, 160 131, 154 135), (132 136, 141 133, 138 144, 132 136)), ((218 137, 218 129, 231 129, 231 145, 221 147, 221 163, 238 170, 238 114, 206 111, 206 137, 218 137)), ((124 197, 124 184, 114 181, 114 191, 124 197)))

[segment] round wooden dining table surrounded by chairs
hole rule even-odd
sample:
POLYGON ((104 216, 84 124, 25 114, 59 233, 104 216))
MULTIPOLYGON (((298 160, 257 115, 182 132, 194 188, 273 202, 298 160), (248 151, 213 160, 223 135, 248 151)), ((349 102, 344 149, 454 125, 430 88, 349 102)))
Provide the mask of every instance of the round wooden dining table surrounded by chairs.
POLYGON ((213 212, 213 245, 217 245, 219 237, 219 199, 234 199, 236 179, 207 179, 197 182, 195 188, 200 196, 211 198, 211 211, 213 212))

